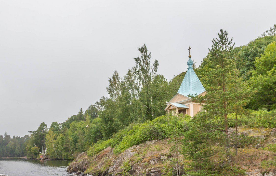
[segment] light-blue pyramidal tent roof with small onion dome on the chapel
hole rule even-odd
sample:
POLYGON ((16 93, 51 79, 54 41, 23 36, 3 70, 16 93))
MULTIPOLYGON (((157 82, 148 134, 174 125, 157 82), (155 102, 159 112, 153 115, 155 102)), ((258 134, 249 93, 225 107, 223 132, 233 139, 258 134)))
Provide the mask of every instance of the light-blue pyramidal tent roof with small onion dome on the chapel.
MULTIPOLYGON (((191 61, 191 58, 189 58, 189 61, 191 61)), ((198 95, 205 91, 205 88, 195 74, 195 71, 193 71, 192 62, 189 61, 187 62, 189 68, 177 92, 184 96, 188 96, 189 94, 198 95)))

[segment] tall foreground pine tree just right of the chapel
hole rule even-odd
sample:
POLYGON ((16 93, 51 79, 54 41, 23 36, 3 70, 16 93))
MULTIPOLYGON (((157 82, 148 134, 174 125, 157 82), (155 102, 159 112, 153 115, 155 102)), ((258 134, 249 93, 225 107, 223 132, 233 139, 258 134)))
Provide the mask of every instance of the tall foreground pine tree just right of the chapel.
MULTIPOLYGON (((239 78, 239 72, 235 67, 234 43, 232 38, 229 40, 228 33, 220 30, 218 38, 212 40, 212 47, 209 49, 209 68, 205 76, 209 84, 208 93, 205 95, 207 100, 204 109, 206 112, 199 113, 198 119, 204 123, 205 131, 223 131, 225 152, 227 160, 230 162, 229 154, 229 135, 228 126, 230 113, 237 115, 243 113, 243 106, 247 101, 245 98, 249 92, 247 86, 239 78)), ((237 119, 236 123, 237 123, 237 119)))

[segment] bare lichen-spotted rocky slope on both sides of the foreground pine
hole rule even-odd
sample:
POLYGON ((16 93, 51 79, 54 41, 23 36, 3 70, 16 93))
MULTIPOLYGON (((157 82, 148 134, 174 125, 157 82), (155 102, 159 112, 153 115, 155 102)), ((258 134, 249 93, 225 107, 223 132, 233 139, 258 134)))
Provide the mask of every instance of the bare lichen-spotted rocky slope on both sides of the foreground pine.
MULTIPOLYGON (((229 128, 230 135, 235 134, 235 128, 229 128)), ((271 160, 274 154, 270 151, 262 150, 260 148, 266 147, 266 144, 276 142, 275 134, 276 128, 239 128, 238 135, 251 136, 257 139, 257 143, 249 147, 252 155, 246 153, 244 161, 239 161, 240 167, 244 169, 248 176, 275 176, 276 170, 260 170, 260 163, 263 160, 271 160), (254 156, 258 155, 258 161, 252 160, 254 156), (246 157, 251 157, 250 159, 246 157), (270 158, 269 158, 270 157, 270 158), (242 163, 244 162, 244 163, 242 163), (258 166, 258 164, 259 166, 258 166), (256 167, 252 167, 254 165, 256 167), (251 167, 248 167, 251 166, 251 167)), ((124 175, 125 169, 133 176, 162 176, 166 173, 166 163, 170 163, 176 156, 170 152, 172 144, 168 139, 162 141, 153 140, 147 141, 144 144, 134 145, 119 155, 113 153, 111 147, 107 147, 98 153, 94 158, 87 156, 86 152, 78 155, 76 160, 68 167, 68 172, 76 172, 77 175, 94 175, 94 176, 121 176, 124 175), (88 171, 87 168, 89 168, 88 171), (86 171, 86 172, 85 172, 86 171)), ((242 153, 240 153, 242 155, 242 153)), ((182 155, 179 156, 181 158, 182 155)), ((182 157, 183 158, 183 157, 182 157)), ((174 167, 174 166, 171 166, 174 167)), ((185 175, 183 166, 181 175, 185 175)))

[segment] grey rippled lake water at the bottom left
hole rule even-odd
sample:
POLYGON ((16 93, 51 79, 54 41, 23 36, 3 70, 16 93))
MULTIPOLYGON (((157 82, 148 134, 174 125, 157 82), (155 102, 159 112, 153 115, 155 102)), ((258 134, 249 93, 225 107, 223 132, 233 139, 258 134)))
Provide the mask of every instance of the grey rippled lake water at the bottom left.
POLYGON ((68 176, 67 167, 72 161, 0 159, 0 175, 9 176, 68 176))

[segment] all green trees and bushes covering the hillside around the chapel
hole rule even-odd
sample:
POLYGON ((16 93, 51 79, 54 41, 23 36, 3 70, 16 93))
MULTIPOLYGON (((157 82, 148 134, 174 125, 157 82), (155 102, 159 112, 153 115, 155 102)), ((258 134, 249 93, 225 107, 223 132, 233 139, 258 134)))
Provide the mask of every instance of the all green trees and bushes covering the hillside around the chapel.
MULTIPOLYGON (((205 97, 191 95, 194 100, 207 101, 205 111, 193 119, 187 115, 170 116, 164 111, 166 101, 177 93, 186 72, 166 80, 157 72, 158 60, 151 60, 152 55, 143 44, 138 48, 140 56, 134 58, 135 65, 126 75, 115 70, 108 79, 109 97, 102 97, 85 111, 81 108, 63 123, 52 122, 49 129, 43 122, 23 138, 0 136, 0 157, 37 158, 47 148, 51 159, 72 160, 84 151, 94 156, 111 146, 114 153, 120 153, 148 140, 171 138, 179 142, 177 153, 191 161, 190 175, 230 170, 239 173, 238 168, 229 165, 231 156, 237 154, 238 147, 254 140, 229 137, 228 128, 276 127, 276 25, 245 46, 235 47, 234 40, 223 30, 212 43, 199 67, 193 64, 208 91, 205 97), (214 164, 211 156, 218 152, 222 155, 219 164, 214 164)), ((180 163, 176 161, 176 165, 180 163)), ((175 172, 178 175, 180 171, 175 172)))

